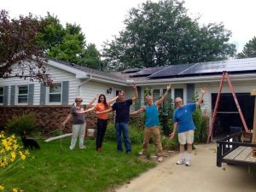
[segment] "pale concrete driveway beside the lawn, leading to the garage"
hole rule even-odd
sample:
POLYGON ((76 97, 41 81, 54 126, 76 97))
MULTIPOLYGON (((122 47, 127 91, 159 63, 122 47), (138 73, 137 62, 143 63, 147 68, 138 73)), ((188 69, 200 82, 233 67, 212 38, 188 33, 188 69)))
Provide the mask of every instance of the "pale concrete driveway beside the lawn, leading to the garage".
POLYGON ((216 166, 215 143, 195 148, 191 166, 177 166, 174 155, 116 192, 256 192, 255 169, 226 165, 224 171, 216 166))

